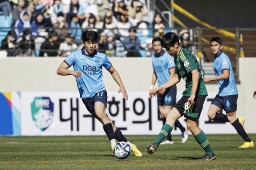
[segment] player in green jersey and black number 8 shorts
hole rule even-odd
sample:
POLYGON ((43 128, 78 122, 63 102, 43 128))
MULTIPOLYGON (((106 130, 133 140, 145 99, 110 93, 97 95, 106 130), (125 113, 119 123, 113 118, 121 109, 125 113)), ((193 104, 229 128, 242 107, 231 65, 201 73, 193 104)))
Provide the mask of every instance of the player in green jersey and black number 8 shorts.
POLYGON ((161 45, 166 49, 167 53, 174 56, 175 74, 165 84, 153 89, 152 94, 156 96, 159 91, 179 83, 181 78, 186 81, 186 89, 183 91, 182 98, 173 106, 171 112, 167 115, 166 122, 158 134, 157 139, 146 148, 146 152, 153 154, 159 144, 166 138, 167 134, 172 131, 175 121, 184 115, 186 117, 187 128, 194 135, 199 145, 205 150, 205 155, 197 160, 214 160, 216 156, 207 141, 206 135, 198 127, 198 119, 207 96, 201 66, 189 50, 179 46, 179 37, 177 34, 173 32, 166 33, 161 41, 161 45))

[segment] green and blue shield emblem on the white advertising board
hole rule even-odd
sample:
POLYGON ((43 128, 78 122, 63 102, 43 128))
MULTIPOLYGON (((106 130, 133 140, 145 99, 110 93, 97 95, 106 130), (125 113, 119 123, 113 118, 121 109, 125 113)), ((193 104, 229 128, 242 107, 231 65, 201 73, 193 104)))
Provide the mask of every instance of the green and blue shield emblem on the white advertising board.
POLYGON ((52 124, 53 106, 49 97, 35 97, 31 103, 32 119, 39 130, 44 131, 52 124))

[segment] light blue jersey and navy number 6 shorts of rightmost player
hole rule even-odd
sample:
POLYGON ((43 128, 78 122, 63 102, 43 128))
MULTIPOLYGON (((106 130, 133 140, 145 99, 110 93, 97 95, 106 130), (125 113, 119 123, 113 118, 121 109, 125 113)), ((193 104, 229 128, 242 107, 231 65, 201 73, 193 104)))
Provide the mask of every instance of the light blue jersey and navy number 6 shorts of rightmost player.
POLYGON ((213 69, 215 75, 221 75, 223 70, 229 70, 229 77, 225 80, 219 80, 218 95, 212 100, 212 104, 223 108, 226 112, 234 112, 237 108, 238 91, 235 83, 235 77, 229 57, 222 51, 214 58, 213 69))

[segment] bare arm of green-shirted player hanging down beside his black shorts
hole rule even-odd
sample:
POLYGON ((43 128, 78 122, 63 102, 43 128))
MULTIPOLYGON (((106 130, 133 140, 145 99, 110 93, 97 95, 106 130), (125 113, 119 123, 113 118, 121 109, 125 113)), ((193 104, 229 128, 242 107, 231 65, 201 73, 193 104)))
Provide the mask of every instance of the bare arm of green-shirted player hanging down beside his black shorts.
POLYGON ((192 74, 192 90, 191 90, 191 96, 188 98, 188 104, 189 106, 191 105, 195 105, 195 97, 196 97, 196 90, 198 87, 198 80, 199 80, 199 76, 200 73, 198 72, 197 69, 191 71, 192 74))

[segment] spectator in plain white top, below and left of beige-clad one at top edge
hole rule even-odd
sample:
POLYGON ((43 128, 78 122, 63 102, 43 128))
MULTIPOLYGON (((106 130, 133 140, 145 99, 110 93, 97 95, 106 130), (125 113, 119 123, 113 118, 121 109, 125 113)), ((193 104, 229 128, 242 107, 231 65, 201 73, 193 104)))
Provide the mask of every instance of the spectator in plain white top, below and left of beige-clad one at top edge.
MULTIPOLYGON (((129 36, 129 29, 131 28, 131 23, 128 22, 128 16, 121 14, 120 21, 117 23, 118 33, 122 37, 129 36)), ((122 40, 122 38, 121 38, 122 40)))

